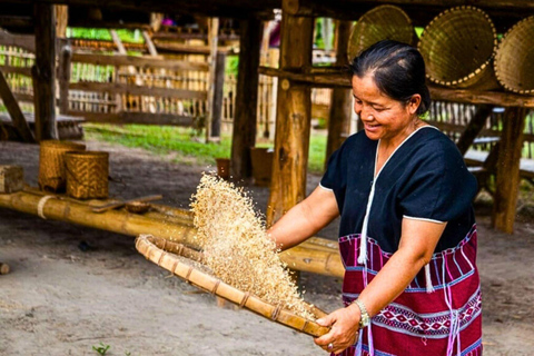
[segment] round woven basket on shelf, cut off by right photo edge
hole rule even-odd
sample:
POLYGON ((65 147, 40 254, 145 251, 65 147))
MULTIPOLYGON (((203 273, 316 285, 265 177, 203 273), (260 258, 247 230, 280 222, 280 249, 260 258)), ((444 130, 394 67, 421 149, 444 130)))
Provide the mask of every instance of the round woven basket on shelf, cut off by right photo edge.
POLYGON ((495 75, 506 89, 534 93, 534 16, 514 24, 503 37, 495 55, 495 75))

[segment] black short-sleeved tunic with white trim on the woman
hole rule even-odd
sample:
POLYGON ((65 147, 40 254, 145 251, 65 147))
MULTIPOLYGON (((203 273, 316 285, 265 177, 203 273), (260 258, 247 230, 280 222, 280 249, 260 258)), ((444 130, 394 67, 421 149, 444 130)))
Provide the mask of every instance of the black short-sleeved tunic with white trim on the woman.
MULTIPOLYGON (((362 233, 378 142, 360 131, 328 160, 320 186, 336 196, 339 236, 362 233)), ((377 174, 374 189, 366 236, 384 251, 398 249, 403 218, 448 222, 436 253, 456 246, 475 224, 476 179, 454 142, 434 127, 404 140, 377 174)))

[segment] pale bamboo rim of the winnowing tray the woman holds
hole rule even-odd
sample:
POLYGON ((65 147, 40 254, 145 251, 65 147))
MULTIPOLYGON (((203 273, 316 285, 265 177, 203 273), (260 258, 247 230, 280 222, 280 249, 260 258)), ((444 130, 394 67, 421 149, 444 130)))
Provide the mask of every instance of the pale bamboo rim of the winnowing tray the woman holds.
MULTIPOLYGON (((314 337, 323 336, 329 332, 328 327, 320 326, 314 320, 297 316, 281 306, 268 304, 248 291, 239 290, 208 273, 180 261, 178 254, 194 260, 196 260, 196 258, 201 260, 202 256, 201 253, 181 244, 152 235, 139 235, 136 238, 136 249, 147 259, 167 269, 172 275, 185 279, 187 283, 202 290, 229 300, 240 308, 246 308, 273 322, 314 337)), ((316 313, 318 317, 326 315, 325 312, 316 307, 314 307, 314 313, 316 313)))

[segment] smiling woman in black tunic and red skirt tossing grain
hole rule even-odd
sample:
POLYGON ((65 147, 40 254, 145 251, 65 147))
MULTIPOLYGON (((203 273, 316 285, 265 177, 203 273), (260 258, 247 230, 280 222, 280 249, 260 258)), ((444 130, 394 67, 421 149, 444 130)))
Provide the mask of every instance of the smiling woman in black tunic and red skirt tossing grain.
POLYGON ((317 323, 335 355, 481 355, 475 178, 454 144, 419 119, 419 52, 382 41, 355 58, 364 130, 330 157, 319 187, 269 230, 281 249, 340 215, 345 307, 317 323))

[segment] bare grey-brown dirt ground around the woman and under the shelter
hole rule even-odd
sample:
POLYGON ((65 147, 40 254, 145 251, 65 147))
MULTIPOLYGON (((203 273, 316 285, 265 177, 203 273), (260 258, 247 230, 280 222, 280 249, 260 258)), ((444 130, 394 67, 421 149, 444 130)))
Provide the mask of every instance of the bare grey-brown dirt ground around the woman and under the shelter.
MULTIPOLYGON (((201 171, 212 169, 174 164, 172 155, 88 146, 111 152, 116 197, 162 194, 165 204, 187 208, 201 171)), ((37 146, 0 142, 0 165, 12 164, 37 184, 37 146)), ((308 190, 318 180, 309 176, 308 190)), ((267 189, 247 186, 263 209, 267 189)), ((484 354, 534 355, 534 220, 508 236, 490 229, 478 210, 484 354)), ((319 236, 335 238, 335 224, 319 236)), ((111 356, 326 355, 309 336, 218 307, 211 295, 169 278, 136 251, 132 237, 0 208, 0 261, 12 269, 0 276, 0 355, 98 355, 92 347, 100 343, 111 356)), ((340 307, 340 280, 301 277, 307 300, 340 307)))

